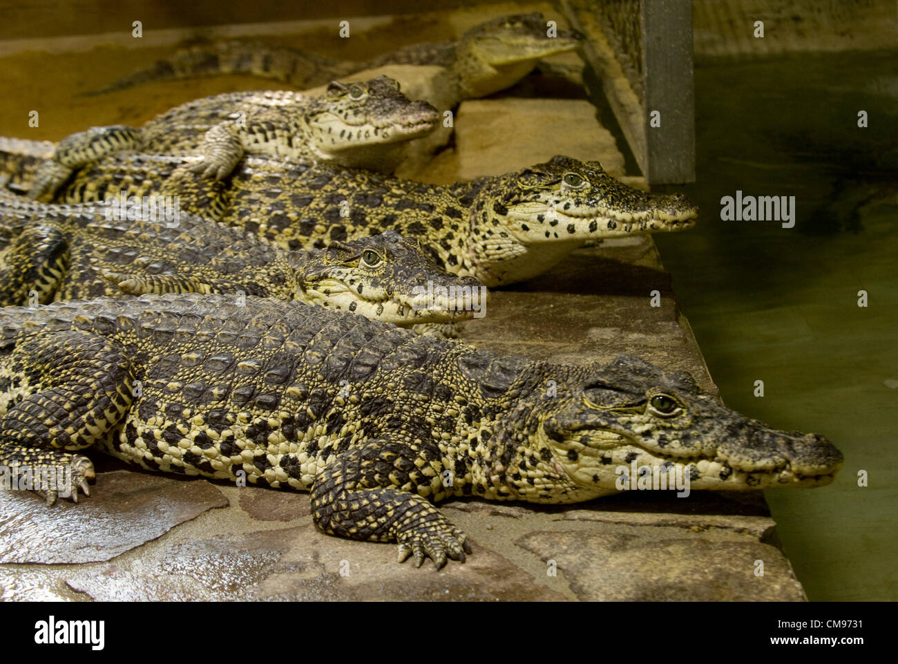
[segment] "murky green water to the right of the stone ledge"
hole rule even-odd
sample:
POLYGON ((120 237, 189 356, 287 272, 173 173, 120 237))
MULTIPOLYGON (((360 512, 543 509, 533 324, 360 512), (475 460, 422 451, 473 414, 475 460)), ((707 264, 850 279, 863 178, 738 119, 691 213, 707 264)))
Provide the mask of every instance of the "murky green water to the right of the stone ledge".
POLYGON ((656 236, 665 267, 726 403, 845 455, 828 487, 766 492, 808 598, 896 599, 898 53, 706 63, 695 83, 697 181, 670 189, 700 224, 656 236), (796 226, 721 221, 736 190, 795 196, 796 226))

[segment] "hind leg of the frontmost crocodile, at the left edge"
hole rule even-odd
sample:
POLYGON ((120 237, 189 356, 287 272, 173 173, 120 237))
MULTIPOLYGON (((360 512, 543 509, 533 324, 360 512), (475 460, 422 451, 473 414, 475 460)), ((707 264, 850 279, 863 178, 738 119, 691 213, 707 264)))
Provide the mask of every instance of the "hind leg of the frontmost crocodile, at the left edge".
POLYGON ((110 435, 132 400, 132 368, 118 344, 90 332, 39 332, 0 359, 0 466, 67 486, 32 486, 48 505, 90 495, 93 465, 71 452, 110 435))

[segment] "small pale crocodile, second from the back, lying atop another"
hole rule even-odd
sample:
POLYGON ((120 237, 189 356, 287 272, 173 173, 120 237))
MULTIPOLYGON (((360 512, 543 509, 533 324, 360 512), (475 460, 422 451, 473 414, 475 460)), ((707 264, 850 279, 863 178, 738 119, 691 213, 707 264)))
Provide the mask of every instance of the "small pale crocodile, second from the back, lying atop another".
POLYGON ((128 152, 194 155, 189 169, 218 180, 246 154, 377 170, 392 162, 394 144, 426 135, 438 118, 387 76, 334 81, 317 95, 218 94, 176 106, 142 128, 92 127, 64 138, 40 165, 29 196, 46 198, 79 166, 128 152))

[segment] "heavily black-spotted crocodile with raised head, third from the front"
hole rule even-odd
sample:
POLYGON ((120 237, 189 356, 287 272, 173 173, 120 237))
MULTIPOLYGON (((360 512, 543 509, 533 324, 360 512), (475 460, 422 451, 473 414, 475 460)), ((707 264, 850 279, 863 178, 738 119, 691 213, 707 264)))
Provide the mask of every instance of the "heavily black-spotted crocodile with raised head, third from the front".
POLYGON ((586 241, 691 228, 682 194, 651 195, 599 162, 548 162, 449 186, 326 164, 250 157, 229 178, 191 173, 163 155, 109 157, 57 192, 57 202, 173 195, 181 208, 260 235, 285 249, 316 248, 395 230, 417 238, 446 270, 487 288, 549 270, 586 241))

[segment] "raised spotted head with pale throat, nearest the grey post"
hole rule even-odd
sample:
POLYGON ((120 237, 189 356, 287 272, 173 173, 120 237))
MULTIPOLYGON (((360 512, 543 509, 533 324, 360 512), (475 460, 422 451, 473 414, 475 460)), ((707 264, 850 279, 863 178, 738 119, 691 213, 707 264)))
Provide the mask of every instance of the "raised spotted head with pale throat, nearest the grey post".
POLYGON ((648 194, 560 155, 472 186, 476 242, 464 251, 489 288, 541 274, 586 240, 682 231, 699 214, 682 194, 648 194))

